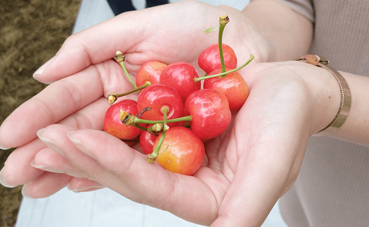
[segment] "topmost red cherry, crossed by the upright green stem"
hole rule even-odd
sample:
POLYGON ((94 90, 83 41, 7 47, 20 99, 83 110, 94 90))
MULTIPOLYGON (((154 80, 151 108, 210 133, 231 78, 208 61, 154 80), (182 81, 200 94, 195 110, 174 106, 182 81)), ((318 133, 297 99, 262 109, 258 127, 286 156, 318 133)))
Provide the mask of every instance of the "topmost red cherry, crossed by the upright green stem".
MULTIPOLYGON (((235 69, 237 67, 237 57, 233 49, 224 43, 222 44, 222 48, 225 68, 235 69)), ((198 63, 199 67, 208 74, 216 69, 221 69, 221 56, 219 53, 219 45, 213 44, 208 48, 206 48, 200 54, 198 63)))

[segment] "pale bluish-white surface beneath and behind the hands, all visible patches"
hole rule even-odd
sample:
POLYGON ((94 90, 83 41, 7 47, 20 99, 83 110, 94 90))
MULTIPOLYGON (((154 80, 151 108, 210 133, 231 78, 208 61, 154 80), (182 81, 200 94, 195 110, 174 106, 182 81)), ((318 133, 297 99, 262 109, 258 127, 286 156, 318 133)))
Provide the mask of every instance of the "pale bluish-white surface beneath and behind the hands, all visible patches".
MULTIPOLYGON (((224 0, 203 0, 219 5, 224 0)), ((134 0, 137 8, 145 1, 134 0)), ((248 0, 226 0, 242 9, 248 0)), ((74 33, 114 16, 106 0, 82 0, 74 33)), ((15 227, 201 227, 168 212, 132 202, 116 192, 102 189, 75 194, 63 189, 45 199, 23 199, 15 227)), ((278 203, 262 227, 287 227, 278 203)))

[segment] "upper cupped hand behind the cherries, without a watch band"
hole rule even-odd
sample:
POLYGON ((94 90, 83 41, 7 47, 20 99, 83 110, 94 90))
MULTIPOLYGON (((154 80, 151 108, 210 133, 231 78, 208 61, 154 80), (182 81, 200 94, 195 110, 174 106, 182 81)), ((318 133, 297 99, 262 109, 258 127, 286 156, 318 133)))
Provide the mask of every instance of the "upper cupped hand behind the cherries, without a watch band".
POLYGON ((74 130, 102 129, 108 108, 105 97, 131 89, 123 70, 111 60, 117 50, 126 55, 126 67, 133 78, 149 60, 167 64, 186 61, 197 66, 200 52, 218 41, 217 32, 205 35, 203 31, 217 26, 223 14, 232 19, 223 40, 234 47, 240 61, 245 61, 252 48, 244 44, 241 12, 197 1, 123 13, 69 37, 56 56, 34 74, 38 81, 51 85, 21 105, 0 127, 0 147, 18 147, 6 161, 0 182, 21 185, 43 174, 31 166, 36 153, 45 148, 36 136, 39 129, 55 123, 74 130))

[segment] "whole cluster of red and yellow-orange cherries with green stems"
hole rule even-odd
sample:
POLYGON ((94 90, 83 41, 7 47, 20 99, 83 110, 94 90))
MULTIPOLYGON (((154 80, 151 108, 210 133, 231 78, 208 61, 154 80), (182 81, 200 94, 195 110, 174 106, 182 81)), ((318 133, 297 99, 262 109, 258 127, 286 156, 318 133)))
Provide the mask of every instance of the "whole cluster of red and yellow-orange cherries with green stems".
POLYGON ((166 65, 146 62, 137 72, 136 83, 124 66, 125 56, 118 51, 115 60, 134 86, 132 91, 111 93, 111 104, 122 96, 139 92, 138 100, 123 100, 112 105, 104 118, 104 130, 119 139, 139 137, 150 163, 157 161, 171 172, 192 175, 201 166, 204 142, 219 136, 230 124, 231 112, 239 110, 248 97, 248 87, 237 72, 240 67, 233 49, 222 44, 228 16, 220 17, 219 41, 199 56, 206 74, 199 77, 187 62, 166 65), (201 81, 203 82, 203 86, 201 81))

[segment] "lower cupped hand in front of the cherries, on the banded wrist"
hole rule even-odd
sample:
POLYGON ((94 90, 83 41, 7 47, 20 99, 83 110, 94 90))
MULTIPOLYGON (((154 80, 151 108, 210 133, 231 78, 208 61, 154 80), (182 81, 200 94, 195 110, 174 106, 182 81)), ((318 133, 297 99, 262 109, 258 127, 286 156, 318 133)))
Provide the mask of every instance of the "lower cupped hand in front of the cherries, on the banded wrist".
MULTIPOLYGON (((111 188, 143 204, 212 227, 261 226, 298 175, 319 103, 302 74, 317 67, 299 62, 254 64, 242 70, 250 95, 229 129, 206 143, 202 167, 193 176, 150 164, 145 155, 100 130, 55 124, 39 133, 74 168, 43 162, 111 188), (246 69, 247 68, 247 69, 246 69), (300 74, 301 73, 301 74, 300 74)), ((314 81, 314 79, 312 78, 314 81)), ((25 186, 39 196, 39 188, 25 186)))

